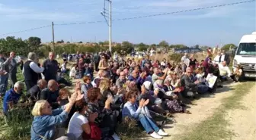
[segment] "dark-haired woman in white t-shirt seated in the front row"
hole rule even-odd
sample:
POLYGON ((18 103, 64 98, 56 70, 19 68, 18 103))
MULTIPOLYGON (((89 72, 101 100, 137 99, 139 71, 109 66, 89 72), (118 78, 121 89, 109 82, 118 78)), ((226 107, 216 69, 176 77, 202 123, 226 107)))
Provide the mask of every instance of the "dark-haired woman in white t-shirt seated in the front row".
POLYGON ((98 113, 90 114, 89 117, 85 117, 85 112, 88 109, 88 104, 85 98, 75 101, 75 114, 72 116, 69 122, 68 133, 75 135, 77 140, 91 139, 100 140, 100 135, 97 138, 91 138, 91 127, 94 124, 95 118, 98 117, 98 113), (84 134, 83 134, 84 133, 84 134))

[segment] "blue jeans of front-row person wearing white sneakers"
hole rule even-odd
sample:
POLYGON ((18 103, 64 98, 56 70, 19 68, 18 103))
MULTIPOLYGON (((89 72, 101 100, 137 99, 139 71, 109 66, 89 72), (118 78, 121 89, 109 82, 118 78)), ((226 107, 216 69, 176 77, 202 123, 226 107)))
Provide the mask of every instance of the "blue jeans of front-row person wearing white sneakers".
POLYGON ((146 117, 144 114, 139 114, 138 120, 142 124, 143 128, 146 130, 147 134, 149 134, 149 132, 159 131, 158 126, 156 126, 156 124, 149 117, 146 117))

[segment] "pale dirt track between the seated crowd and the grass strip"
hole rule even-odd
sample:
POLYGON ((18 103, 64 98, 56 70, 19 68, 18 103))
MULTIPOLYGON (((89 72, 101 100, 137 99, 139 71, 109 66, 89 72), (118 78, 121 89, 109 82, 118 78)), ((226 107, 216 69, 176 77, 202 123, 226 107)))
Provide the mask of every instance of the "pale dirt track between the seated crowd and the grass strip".
MULTIPOLYGON (((171 136, 163 139, 171 140, 177 138, 178 135, 184 135, 189 131, 187 128, 196 126, 198 123, 211 117, 214 114, 214 110, 221 104, 222 98, 232 95, 233 86, 235 84, 224 86, 223 89, 217 89, 215 95, 205 95, 205 97, 194 101, 194 104, 197 105, 190 105, 190 108, 188 108, 192 114, 174 114, 177 123, 165 125, 165 132, 168 132, 171 136)), ((146 139, 151 140, 153 138, 148 137, 146 139)))

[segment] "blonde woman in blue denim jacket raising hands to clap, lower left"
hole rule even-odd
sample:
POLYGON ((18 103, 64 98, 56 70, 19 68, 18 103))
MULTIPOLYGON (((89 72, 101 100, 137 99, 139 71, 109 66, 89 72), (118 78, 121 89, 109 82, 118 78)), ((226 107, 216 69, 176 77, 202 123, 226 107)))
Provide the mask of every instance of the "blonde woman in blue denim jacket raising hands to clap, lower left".
POLYGON ((69 99, 69 104, 66 104, 65 110, 60 108, 52 110, 52 107, 46 100, 37 101, 32 110, 34 120, 31 126, 31 139, 43 140, 63 137, 65 129, 56 128, 56 126, 61 125, 68 119, 76 97, 77 94, 74 93, 69 99))

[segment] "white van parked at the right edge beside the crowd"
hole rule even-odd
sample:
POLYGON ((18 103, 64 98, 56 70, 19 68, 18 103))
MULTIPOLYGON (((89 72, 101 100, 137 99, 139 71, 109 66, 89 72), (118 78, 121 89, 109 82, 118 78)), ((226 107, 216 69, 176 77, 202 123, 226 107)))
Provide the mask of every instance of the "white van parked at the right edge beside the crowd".
POLYGON ((235 52, 233 68, 238 64, 242 66, 245 77, 256 78, 256 32, 242 36, 235 52))

